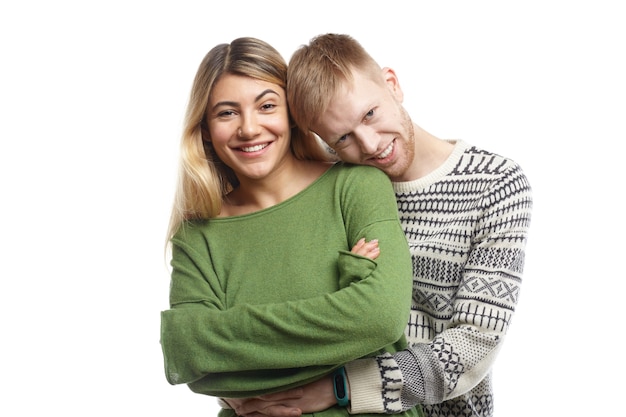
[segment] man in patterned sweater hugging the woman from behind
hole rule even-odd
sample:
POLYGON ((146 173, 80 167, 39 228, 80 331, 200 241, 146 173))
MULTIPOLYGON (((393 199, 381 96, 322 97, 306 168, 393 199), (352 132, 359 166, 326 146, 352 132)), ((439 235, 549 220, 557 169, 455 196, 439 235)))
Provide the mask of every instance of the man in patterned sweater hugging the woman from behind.
MULTIPOLYGON (((393 181, 413 257, 410 349, 345 365, 351 413, 492 416, 491 368, 517 304, 532 196, 510 159, 436 138, 412 122, 390 68, 346 35, 292 56, 288 101, 303 130, 393 181)), ((286 417, 336 404, 330 379, 238 401, 239 415, 286 417)))

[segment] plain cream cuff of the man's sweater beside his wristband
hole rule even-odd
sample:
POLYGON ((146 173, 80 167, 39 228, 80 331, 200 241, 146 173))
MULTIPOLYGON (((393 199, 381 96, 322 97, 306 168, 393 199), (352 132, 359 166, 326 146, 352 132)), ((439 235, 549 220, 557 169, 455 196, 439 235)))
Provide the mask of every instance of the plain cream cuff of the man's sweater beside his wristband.
POLYGON ((350 384, 350 414, 384 413, 383 384, 375 358, 357 359, 345 365, 350 384))

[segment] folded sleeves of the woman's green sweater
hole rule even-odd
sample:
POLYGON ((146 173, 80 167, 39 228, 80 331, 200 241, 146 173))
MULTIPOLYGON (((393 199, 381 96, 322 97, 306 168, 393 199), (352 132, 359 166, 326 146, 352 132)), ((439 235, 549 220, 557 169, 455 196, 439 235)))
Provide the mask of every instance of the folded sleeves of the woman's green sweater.
POLYGON ((381 255, 371 261, 342 251, 340 279, 351 284, 334 293, 226 309, 225 290, 201 266, 207 256, 201 239, 190 232, 173 242, 172 279, 185 284, 177 284, 172 308, 161 313, 170 383, 214 396, 253 396, 310 382, 383 347, 406 346, 410 253, 389 180, 375 169, 363 172, 364 179, 345 187, 346 227, 379 239, 381 255))

